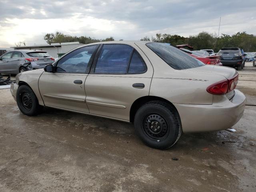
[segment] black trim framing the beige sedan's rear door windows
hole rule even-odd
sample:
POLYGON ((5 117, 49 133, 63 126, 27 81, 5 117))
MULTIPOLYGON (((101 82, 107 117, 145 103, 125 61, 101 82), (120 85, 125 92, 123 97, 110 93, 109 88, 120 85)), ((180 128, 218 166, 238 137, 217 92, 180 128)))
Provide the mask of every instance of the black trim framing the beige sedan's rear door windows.
POLYGON ((105 44, 103 43, 103 44, 101 44, 100 48, 98 49, 98 51, 96 53, 96 56, 95 56, 95 59, 93 61, 92 68, 91 68, 89 74, 95 74, 95 75, 135 75, 135 74, 144 74, 144 73, 146 73, 148 71, 148 66, 147 66, 145 60, 140 55, 140 53, 138 52, 138 50, 136 50, 136 51, 138 52, 138 54, 139 54, 140 58, 142 59, 143 63, 145 64, 146 70, 144 72, 140 72, 140 73, 128 73, 128 70, 130 68, 130 63, 131 63, 131 60, 132 60, 132 56, 133 56, 135 50, 136 49, 133 46, 131 46, 129 44, 124 44, 124 43, 105 43, 105 44), (127 45, 127 46, 130 46, 132 48, 132 52, 130 54, 130 57, 129 57, 129 60, 128 60, 128 65, 127 65, 125 73, 95 73, 96 64, 98 62, 100 52, 101 52, 104 45, 127 45))

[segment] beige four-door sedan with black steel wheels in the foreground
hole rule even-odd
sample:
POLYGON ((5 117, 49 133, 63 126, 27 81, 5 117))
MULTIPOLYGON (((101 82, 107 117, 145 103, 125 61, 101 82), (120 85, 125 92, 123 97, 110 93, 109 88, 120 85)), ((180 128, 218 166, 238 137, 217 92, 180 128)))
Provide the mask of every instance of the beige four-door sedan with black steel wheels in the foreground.
POLYGON ((44 69, 20 73, 11 93, 25 115, 48 106, 132 122, 145 144, 165 149, 182 132, 236 124, 245 107, 237 83, 236 70, 205 65, 168 44, 117 41, 80 46, 44 69), (80 54, 86 65, 74 62, 80 54))

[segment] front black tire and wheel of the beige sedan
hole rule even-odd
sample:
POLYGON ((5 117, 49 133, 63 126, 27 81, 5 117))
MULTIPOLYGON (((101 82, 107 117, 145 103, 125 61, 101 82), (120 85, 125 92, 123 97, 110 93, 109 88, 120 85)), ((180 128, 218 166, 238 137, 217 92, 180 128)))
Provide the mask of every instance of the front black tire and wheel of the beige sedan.
POLYGON ((35 116, 42 110, 42 106, 38 104, 38 99, 29 86, 18 87, 16 101, 20 111, 27 116, 35 116))

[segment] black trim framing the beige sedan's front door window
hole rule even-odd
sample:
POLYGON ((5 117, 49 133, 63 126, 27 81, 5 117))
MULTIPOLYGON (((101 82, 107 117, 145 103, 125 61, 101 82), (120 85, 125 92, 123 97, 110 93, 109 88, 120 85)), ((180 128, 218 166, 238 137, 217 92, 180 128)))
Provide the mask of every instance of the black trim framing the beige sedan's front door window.
POLYGON ((62 58, 60 58, 60 59, 56 62, 56 65, 54 66, 54 69, 53 69, 54 73, 89 74, 90 68, 91 68, 91 66, 92 66, 92 62, 93 62, 93 60, 94 60, 95 54, 96 54, 96 52, 98 51, 98 48, 99 48, 99 47, 100 47, 100 44, 94 44, 94 45, 88 45, 88 46, 78 47, 77 49, 74 49, 73 51, 68 52, 66 55, 64 55, 62 58), (87 65, 87 67, 86 67, 85 72, 58 72, 58 71, 56 71, 57 66, 58 66, 58 63, 59 63, 59 61, 60 61, 62 58, 68 56, 70 53, 72 53, 72 52, 74 52, 74 51, 76 51, 76 50, 78 50, 78 49, 81 49, 81 48, 84 48, 84 47, 89 47, 89 46, 95 46, 95 45, 96 45, 96 48, 95 48, 94 52, 92 53, 92 56, 91 56, 91 58, 90 58, 90 60, 89 60, 89 62, 88 62, 88 65, 87 65))

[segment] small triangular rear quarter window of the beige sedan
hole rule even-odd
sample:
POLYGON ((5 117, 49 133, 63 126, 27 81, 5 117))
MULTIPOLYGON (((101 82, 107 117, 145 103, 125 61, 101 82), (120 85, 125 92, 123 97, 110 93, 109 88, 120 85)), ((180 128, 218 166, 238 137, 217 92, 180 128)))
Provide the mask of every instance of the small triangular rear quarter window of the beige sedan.
POLYGON ((144 60, 141 58, 138 51, 134 50, 128 73, 144 73, 146 70, 147 66, 144 63, 144 60))

